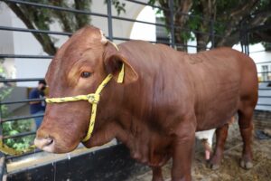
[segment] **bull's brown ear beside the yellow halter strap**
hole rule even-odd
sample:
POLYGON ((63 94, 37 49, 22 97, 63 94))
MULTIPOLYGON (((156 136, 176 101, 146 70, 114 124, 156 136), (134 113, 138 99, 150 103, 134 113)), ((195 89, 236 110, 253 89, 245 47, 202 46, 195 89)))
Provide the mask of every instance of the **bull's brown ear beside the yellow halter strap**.
MULTIPOLYGON (((113 54, 105 60, 107 73, 113 74, 113 79, 119 79, 122 66, 124 66, 124 83, 131 83, 138 79, 134 68, 126 61, 126 58, 119 54, 113 54)), ((119 82, 119 81, 118 81, 119 82)))

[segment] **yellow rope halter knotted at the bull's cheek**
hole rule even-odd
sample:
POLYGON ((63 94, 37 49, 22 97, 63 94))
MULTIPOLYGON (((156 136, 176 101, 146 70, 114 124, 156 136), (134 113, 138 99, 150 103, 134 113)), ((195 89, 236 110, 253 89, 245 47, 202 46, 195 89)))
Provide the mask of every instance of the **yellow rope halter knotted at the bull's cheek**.
MULTIPOLYGON (((111 43, 111 42, 109 42, 111 43)), ((117 45, 115 43, 112 43, 117 51, 117 45)), ((79 95, 79 96, 72 96, 72 97, 64 97, 64 98, 50 98, 46 99, 45 101, 47 103, 62 103, 62 102, 68 102, 68 101, 78 101, 78 100, 88 100, 90 104, 92 104, 92 110, 91 110, 91 115, 90 115, 90 120, 89 120, 89 129, 87 136, 82 139, 83 142, 89 140, 91 137, 92 131, 94 129, 94 123, 95 123, 95 118, 96 118, 96 112, 97 112, 97 105, 100 97, 100 92, 103 90, 103 88, 107 85, 107 82, 112 79, 113 75, 108 74, 106 79, 101 82, 101 84, 98 86, 98 89, 95 91, 95 93, 90 93, 88 95, 79 95)), ((122 83, 124 80, 124 64, 122 64, 121 71, 118 74, 117 78, 117 83, 122 83)))

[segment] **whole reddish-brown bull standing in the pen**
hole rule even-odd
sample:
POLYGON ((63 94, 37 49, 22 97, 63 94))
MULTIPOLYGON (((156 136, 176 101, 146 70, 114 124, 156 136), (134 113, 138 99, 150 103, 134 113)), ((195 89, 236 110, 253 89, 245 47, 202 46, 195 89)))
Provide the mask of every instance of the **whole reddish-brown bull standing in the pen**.
MULTIPOLYGON (((187 54, 142 41, 118 48, 87 26, 61 46, 46 74, 50 98, 93 93, 107 74, 114 75, 101 92, 87 148, 117 138, 132 157, 153 168, 153 180, 163 180, 161 167, 170 157, 172 179, 191 180, 195 132, 218 128, 210 160, 218 166, 228 120, 238 112, 241 166, 252 167, 257 71, 247 55, 229 48, 187 54), (125 80, 117 83, 123 63, 125 80)), ((85 100, 48 104, 36 146, 55 153, 75 149, 87 134, 90 109, 85 100)))

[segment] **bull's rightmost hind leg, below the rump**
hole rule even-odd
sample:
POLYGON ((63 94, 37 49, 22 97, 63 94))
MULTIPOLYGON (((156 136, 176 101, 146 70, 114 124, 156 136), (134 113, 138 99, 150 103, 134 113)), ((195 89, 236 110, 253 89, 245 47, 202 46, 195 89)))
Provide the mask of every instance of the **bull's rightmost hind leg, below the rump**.
POLYGON ((252 131, 253 131, 253 106, 249 106, 244 108, 243 110, 238 110, 238 124, 241 133, 241 137, 243 139, 243 152, 242 158, 240 161, 240 166, 246 169, 253 167, 252 164, 252 131))

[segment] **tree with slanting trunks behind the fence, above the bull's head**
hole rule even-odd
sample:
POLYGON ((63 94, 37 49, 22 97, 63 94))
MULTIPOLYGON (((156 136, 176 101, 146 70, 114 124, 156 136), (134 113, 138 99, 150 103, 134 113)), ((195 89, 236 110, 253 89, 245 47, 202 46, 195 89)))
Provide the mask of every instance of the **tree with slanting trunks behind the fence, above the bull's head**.
MULTIPOLYGON (((64 8, 84 10, 90 12, 92 0, 28 0, 27 2, 39 3, 42 5, 54 5, 64 8)), ((79 28, 90 24, 91 18, 89 14, 71 13, 68 11, 58 11, 48 8, 36 7, 32 5, 23 5, 5 2, 6 5, 16 14, 23 24, 29 29, 51 30, 51 24, 57 23, 61 25, 63 32, 73 33, 79 28)), ((105 4, 107 0, 105 0, 105 4)), ((112 0, 112 5, 117 10, 117 14, 126 12, 125 4, 118 0, 112 0)), ((55 43, 57 39, 46 33, 33 33, 33 36, 41 43, 43 51, 50 55, 54 55, 57 51, 55 43)))

